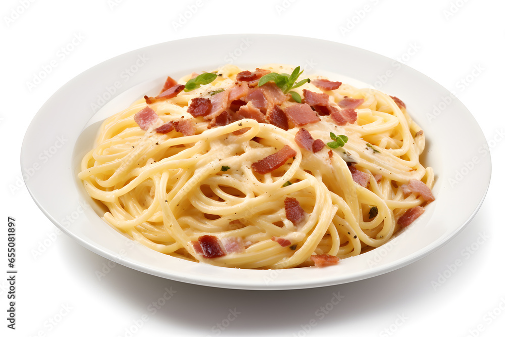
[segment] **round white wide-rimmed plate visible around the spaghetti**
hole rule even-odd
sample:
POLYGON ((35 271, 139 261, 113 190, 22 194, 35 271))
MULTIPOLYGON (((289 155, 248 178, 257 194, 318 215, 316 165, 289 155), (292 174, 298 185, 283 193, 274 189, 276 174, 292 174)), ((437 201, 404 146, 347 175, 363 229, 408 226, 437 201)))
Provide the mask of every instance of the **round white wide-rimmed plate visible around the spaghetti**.
POLYGON ((148 46, 75 77, 44 104, 28 127, 21 168, 26 186, 42 212, 99 255, 182 282, 279 290, 380 275, 440 248, 469 223, 484 200, 491 175, 486 146, 482 131, 461 102, 408 66, 330 41, 280 35, 222 35, 148 46), (399 97, 425 130, 425 164, 436 172, 436 201, 428 205, 422 218, 388 244, 326 268, 230 269, 180 260, 133 243, 100 219, 98 214, 103 210, 91 201, 76 177, 80 159, 92 147, 99 122, 144 93, 155 93, 167 75, 178 78, 230 61, 249 68, 267 63, 300 65, 305 74, 354 79, 351 84, 375 85, 399 97), (471 141, 462 141, 463 135, 471 135, 471 141))

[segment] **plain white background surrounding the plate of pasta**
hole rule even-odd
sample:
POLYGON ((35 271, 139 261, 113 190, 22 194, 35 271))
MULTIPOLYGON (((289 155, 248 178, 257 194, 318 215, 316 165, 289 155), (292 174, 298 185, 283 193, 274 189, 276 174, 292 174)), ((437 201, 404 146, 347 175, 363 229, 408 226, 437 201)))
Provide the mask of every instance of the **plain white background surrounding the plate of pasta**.
MULTIPOLYGON (((0 334, 503 335, 503 2, 4 0, 1 7, 0 272, 7 275, 11 216, 17 223, 18 274, 16 330, 7 328, 7 276, 0 278, 0 334), (181 19, 184 13, 188 19, 181 19), (375 278, 312 290, 225 290, 121 265, 107 270, 108 260, 65 235, 57 235, 34 257, 33 251, 56 232, 30 198, 19 164, 25 130, 42 104, 68 80, 114 56, 150 44, 229 33, 299 35, 358 46, 399 59, 455 91, 492 146, 493 177, 479 213, 451 242, 416 263, 375 278), (52 60, 56 66, 41 83, 27 84, 52 60), (451 267, 458 259, 462 263, 451 267), (96 272, 104 270, 107 275, 98 278, 96 272), (441 278, 444 274, 449 277, 441 278), (153 310, 151 303, 163 298, 166 289, 172 297, 153 310), (343 299, 329 305, 320 319, 320 307, 334 294, 343 299)), ((293 46, 293 52, 299 47, 293 46)), ((460 146, 468 142, 472 135, 462 134, 460 146)))

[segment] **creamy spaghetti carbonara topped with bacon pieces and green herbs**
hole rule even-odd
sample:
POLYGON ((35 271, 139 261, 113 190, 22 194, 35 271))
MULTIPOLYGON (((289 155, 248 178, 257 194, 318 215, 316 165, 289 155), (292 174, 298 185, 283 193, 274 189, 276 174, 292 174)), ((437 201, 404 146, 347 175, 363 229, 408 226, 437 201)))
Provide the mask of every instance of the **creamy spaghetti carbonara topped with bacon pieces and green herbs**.
POLYGON ((110 225, 190 261, 324 266, 379 247, 434 200, 424 133, 397 98, 299 76, 169 77, 104 121, 79 178, 110 225))

